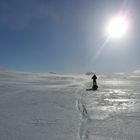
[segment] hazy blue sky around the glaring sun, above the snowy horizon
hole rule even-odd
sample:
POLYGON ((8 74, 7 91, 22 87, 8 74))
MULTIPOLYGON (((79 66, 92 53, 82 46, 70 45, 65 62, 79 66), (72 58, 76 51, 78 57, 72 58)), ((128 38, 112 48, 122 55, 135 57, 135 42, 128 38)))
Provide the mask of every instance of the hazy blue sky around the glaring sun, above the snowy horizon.
POLYGON ((140 68, 139 0, 1 0, 0 68, 58 73, 140 68), (110 17, 124 11, 131 28, 107 40, 110 17))

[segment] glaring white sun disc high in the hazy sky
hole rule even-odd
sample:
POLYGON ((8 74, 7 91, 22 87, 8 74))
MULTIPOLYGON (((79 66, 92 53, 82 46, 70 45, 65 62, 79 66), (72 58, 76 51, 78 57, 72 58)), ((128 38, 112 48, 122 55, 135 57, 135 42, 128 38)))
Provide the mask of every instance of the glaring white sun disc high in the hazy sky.
POLYGON ((128 30, 128 20, 123 16, 112 18, 109 22, 107 32, 111 38, 121 38, 128 30))

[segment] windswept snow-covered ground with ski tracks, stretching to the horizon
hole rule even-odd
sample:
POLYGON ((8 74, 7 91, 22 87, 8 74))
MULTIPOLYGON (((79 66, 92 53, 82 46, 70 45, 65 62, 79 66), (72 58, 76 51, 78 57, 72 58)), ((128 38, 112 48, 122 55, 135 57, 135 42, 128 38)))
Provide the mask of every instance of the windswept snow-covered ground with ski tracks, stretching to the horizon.
POLYGON ((0 140, 140 140, 140 76, 0 71, 0 140))

